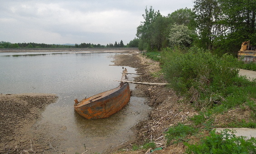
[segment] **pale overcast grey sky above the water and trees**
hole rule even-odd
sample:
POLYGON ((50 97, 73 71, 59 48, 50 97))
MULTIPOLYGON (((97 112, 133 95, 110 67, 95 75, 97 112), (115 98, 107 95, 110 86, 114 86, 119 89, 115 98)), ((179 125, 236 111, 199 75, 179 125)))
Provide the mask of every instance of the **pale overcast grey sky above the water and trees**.
POLYGON ((0 41, 127 44, 150 6, 166 16, 193 0, 0 0, 0 41))

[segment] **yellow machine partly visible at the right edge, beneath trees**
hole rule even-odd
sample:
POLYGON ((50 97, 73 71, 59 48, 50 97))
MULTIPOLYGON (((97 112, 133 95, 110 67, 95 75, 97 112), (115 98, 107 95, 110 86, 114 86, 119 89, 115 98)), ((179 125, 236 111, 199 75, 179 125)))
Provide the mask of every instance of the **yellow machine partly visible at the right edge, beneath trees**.
POLYGON ((250 45, 250 41, 242 43, 241 49, 238 51, 238 59, 244 62, 256 63, 256 47, 250 45))

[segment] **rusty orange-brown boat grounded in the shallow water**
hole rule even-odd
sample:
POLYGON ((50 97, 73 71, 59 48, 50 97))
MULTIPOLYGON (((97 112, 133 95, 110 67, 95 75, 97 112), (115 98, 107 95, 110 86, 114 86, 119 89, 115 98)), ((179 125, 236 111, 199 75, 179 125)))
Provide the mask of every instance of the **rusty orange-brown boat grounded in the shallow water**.
MULTIPOLYGON (((127 69, 122 73, 121 81, 128 81, 127 69)), ((86 119, 106 118, 124 108, 130 101, 129 83, 121 82, 118 87, 85 98, 82 101, 74 100, 77 113, 86 119)))

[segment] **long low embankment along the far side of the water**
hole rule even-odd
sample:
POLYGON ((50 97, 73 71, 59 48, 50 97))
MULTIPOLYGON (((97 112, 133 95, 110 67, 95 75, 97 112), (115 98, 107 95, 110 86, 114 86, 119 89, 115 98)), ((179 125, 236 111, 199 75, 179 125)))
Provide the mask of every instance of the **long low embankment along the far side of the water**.
POLYGON ((20 53, 20 52, 79 52, 79 51, 98 51, 123 53, 128 51, 139 51, 138 48, 0 48, 0 53, 20 53))

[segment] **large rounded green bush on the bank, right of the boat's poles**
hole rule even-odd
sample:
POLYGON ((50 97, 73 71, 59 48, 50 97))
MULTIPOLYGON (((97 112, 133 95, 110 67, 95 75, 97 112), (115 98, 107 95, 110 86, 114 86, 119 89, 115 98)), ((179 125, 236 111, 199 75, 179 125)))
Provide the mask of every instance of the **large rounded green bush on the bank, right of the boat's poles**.
POLYGON ((161 57, 166 79, 181 93, 191 87, 202 93, 208 93, 209 90, 219 91, 225 85, 232 84, 232 78, 238 73, 237 64, 231 56, 218 58, 198 48, 191 48, 185 54, 163 52, 161 57))

